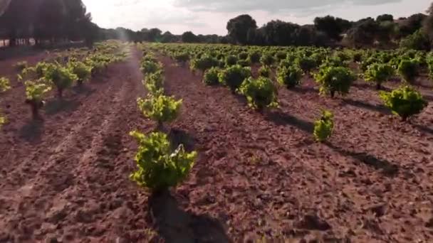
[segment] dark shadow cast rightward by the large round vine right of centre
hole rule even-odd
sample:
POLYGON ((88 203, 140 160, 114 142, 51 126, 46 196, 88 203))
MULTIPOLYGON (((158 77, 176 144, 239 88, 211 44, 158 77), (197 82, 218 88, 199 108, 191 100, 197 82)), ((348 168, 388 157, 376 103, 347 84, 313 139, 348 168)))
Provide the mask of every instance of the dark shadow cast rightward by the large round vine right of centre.
POLYGON ((308 134, 312 134, 314 131, 314 124, 310 121, 298 119, 281 111, 267 112, 265 118, 278 126, 295 126, 308 134))

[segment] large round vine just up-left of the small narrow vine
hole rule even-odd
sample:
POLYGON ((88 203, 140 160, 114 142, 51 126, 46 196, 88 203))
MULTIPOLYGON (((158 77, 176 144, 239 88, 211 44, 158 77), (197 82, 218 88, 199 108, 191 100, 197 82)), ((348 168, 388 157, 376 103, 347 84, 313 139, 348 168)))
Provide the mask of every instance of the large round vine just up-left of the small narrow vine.
POLYGON ((261 111, 264 107, 277 107, 277 92, 272 80, 267 77, 249 77, 242 82, 239 92, 248 100, 249 107, 261 111))

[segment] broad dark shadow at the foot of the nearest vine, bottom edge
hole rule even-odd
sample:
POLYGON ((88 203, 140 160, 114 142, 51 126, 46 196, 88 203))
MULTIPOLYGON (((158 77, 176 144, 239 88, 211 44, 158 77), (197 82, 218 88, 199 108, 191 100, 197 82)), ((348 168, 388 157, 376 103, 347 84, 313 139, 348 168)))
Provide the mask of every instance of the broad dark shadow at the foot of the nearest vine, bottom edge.
POLYGON ((167 243, 231 242, 219 220, 182 210, 168 191, 150 196, 149 209, 156 232, 167 243))

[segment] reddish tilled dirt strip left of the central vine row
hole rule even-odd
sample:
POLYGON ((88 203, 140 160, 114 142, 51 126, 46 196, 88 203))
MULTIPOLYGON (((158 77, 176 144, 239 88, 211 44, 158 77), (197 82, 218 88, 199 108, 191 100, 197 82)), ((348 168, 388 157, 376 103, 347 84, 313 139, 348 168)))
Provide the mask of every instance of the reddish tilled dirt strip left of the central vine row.
POLYGON ((1 160, 0 242, 107 242, 145 228, 144 195, 128 179, 135 144, 127 134, 151 129, 136 108, 144 93, 139 60, 134 50, 85 90, 52 104, 55 111, 48 104, 43 124, 26 125, 28 111, 11 109, 17 122, 4 127, 0 143, 12 151, 1 160), (38 130, 37 138, 22 136, 23 126, 38 130))

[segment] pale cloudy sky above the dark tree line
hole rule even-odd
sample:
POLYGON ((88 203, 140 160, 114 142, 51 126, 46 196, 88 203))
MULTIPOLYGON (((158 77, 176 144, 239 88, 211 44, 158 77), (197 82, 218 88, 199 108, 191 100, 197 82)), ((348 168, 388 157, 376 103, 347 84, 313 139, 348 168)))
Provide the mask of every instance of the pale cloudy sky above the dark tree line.
POLYGON ((93 21, 103 28, 134 31, 160 28, 174 34, 226 35, 226 23, 248 13, 262 26, 279 19, 313 23, 316 16, 332 15, 351 21, 390 13, 395 18, 424 13, 429 0, 83 0, 93 21))

